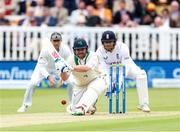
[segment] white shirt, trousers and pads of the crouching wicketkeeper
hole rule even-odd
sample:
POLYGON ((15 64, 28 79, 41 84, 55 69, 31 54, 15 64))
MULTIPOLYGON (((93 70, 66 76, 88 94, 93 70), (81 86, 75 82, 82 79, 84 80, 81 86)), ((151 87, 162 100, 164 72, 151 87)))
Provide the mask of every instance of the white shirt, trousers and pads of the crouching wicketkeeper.
POLYGON ((136 80, 139 104, 149 104, 146 72, 134 63, 126 44, 116 42, 112 52, 108 52, 103 46, 100 46, 96 53, 99 58, 100 69, 103 69, 107 75, 109 75, 109 67, 111 64, 124 64, 126 66, 126 76, 136 80))

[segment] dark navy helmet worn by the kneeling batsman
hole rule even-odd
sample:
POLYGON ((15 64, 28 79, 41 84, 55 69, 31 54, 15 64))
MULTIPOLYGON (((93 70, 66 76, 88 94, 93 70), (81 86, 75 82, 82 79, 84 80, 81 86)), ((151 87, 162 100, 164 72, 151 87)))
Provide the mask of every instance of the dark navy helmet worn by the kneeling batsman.
POLYGON ((74 45, 73 45, 73 50, 76 49, 82 49, 82 48, 86 48, 88 49, 88 45, 86 40, 82 39, 82 38, 78 38, 74 41, 74 45))

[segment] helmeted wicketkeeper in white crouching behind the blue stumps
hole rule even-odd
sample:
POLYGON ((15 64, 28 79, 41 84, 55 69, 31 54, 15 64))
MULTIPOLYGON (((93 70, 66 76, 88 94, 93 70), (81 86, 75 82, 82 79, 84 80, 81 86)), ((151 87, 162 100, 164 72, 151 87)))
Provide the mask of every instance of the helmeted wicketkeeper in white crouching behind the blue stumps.
POLYGON ((139 98, 138 109, 144 112, 150 112, 146 72, 134 63, 130 57, 127 45, 116 40, 116 36, 112 31, 105 31, 102 34, 102 46, 96 51, 100 67, 108 74, 111 64, 124 64, 126 67, 126 76, 136 81, 139 98))

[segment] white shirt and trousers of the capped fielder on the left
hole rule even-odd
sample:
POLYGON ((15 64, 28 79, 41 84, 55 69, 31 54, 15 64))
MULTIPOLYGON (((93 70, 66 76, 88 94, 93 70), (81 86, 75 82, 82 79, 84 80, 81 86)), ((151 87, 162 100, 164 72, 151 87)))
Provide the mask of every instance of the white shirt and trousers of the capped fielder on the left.
MULTIPOLYGON (((67 45, 61 43, 59 48, 59 54, 67 59, 70 56, 71 51, 67 45)), ((60 77, 59 73, 55 69, 55 62, 51 55, 48 52, 48 49, 44 47, 39 55, 36 67, 31 76, 31 80, 26 88, 26 92, 24 95, 23 104, 27 106, 32 105, 32 96, 35 90, 35 87, 49 75, 52 77, 60 77)))

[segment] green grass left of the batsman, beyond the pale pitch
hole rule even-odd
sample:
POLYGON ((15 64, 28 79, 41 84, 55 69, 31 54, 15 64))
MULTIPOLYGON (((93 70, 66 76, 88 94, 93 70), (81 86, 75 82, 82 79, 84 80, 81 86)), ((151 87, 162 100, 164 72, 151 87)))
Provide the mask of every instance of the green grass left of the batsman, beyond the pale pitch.
MULTIPOLYGON (((0 114, 17 114, 21 106, 24 90, 0 90, 0 114)), ((62 112, 61 99, 67 99, 64 89, 37 89, 33 96, 33 105, 28 113, 62 112)))

